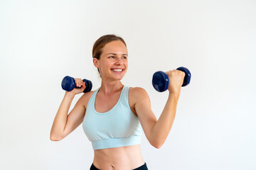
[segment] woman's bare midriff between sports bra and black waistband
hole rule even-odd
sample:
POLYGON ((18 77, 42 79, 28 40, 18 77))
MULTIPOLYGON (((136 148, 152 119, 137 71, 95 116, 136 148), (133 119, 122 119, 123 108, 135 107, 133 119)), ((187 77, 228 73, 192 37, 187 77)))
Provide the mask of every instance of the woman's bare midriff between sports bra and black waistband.
POLYGON ((144 164, 140 145, 97 149, 93 164, 100 170, 132 170, 144 164))

